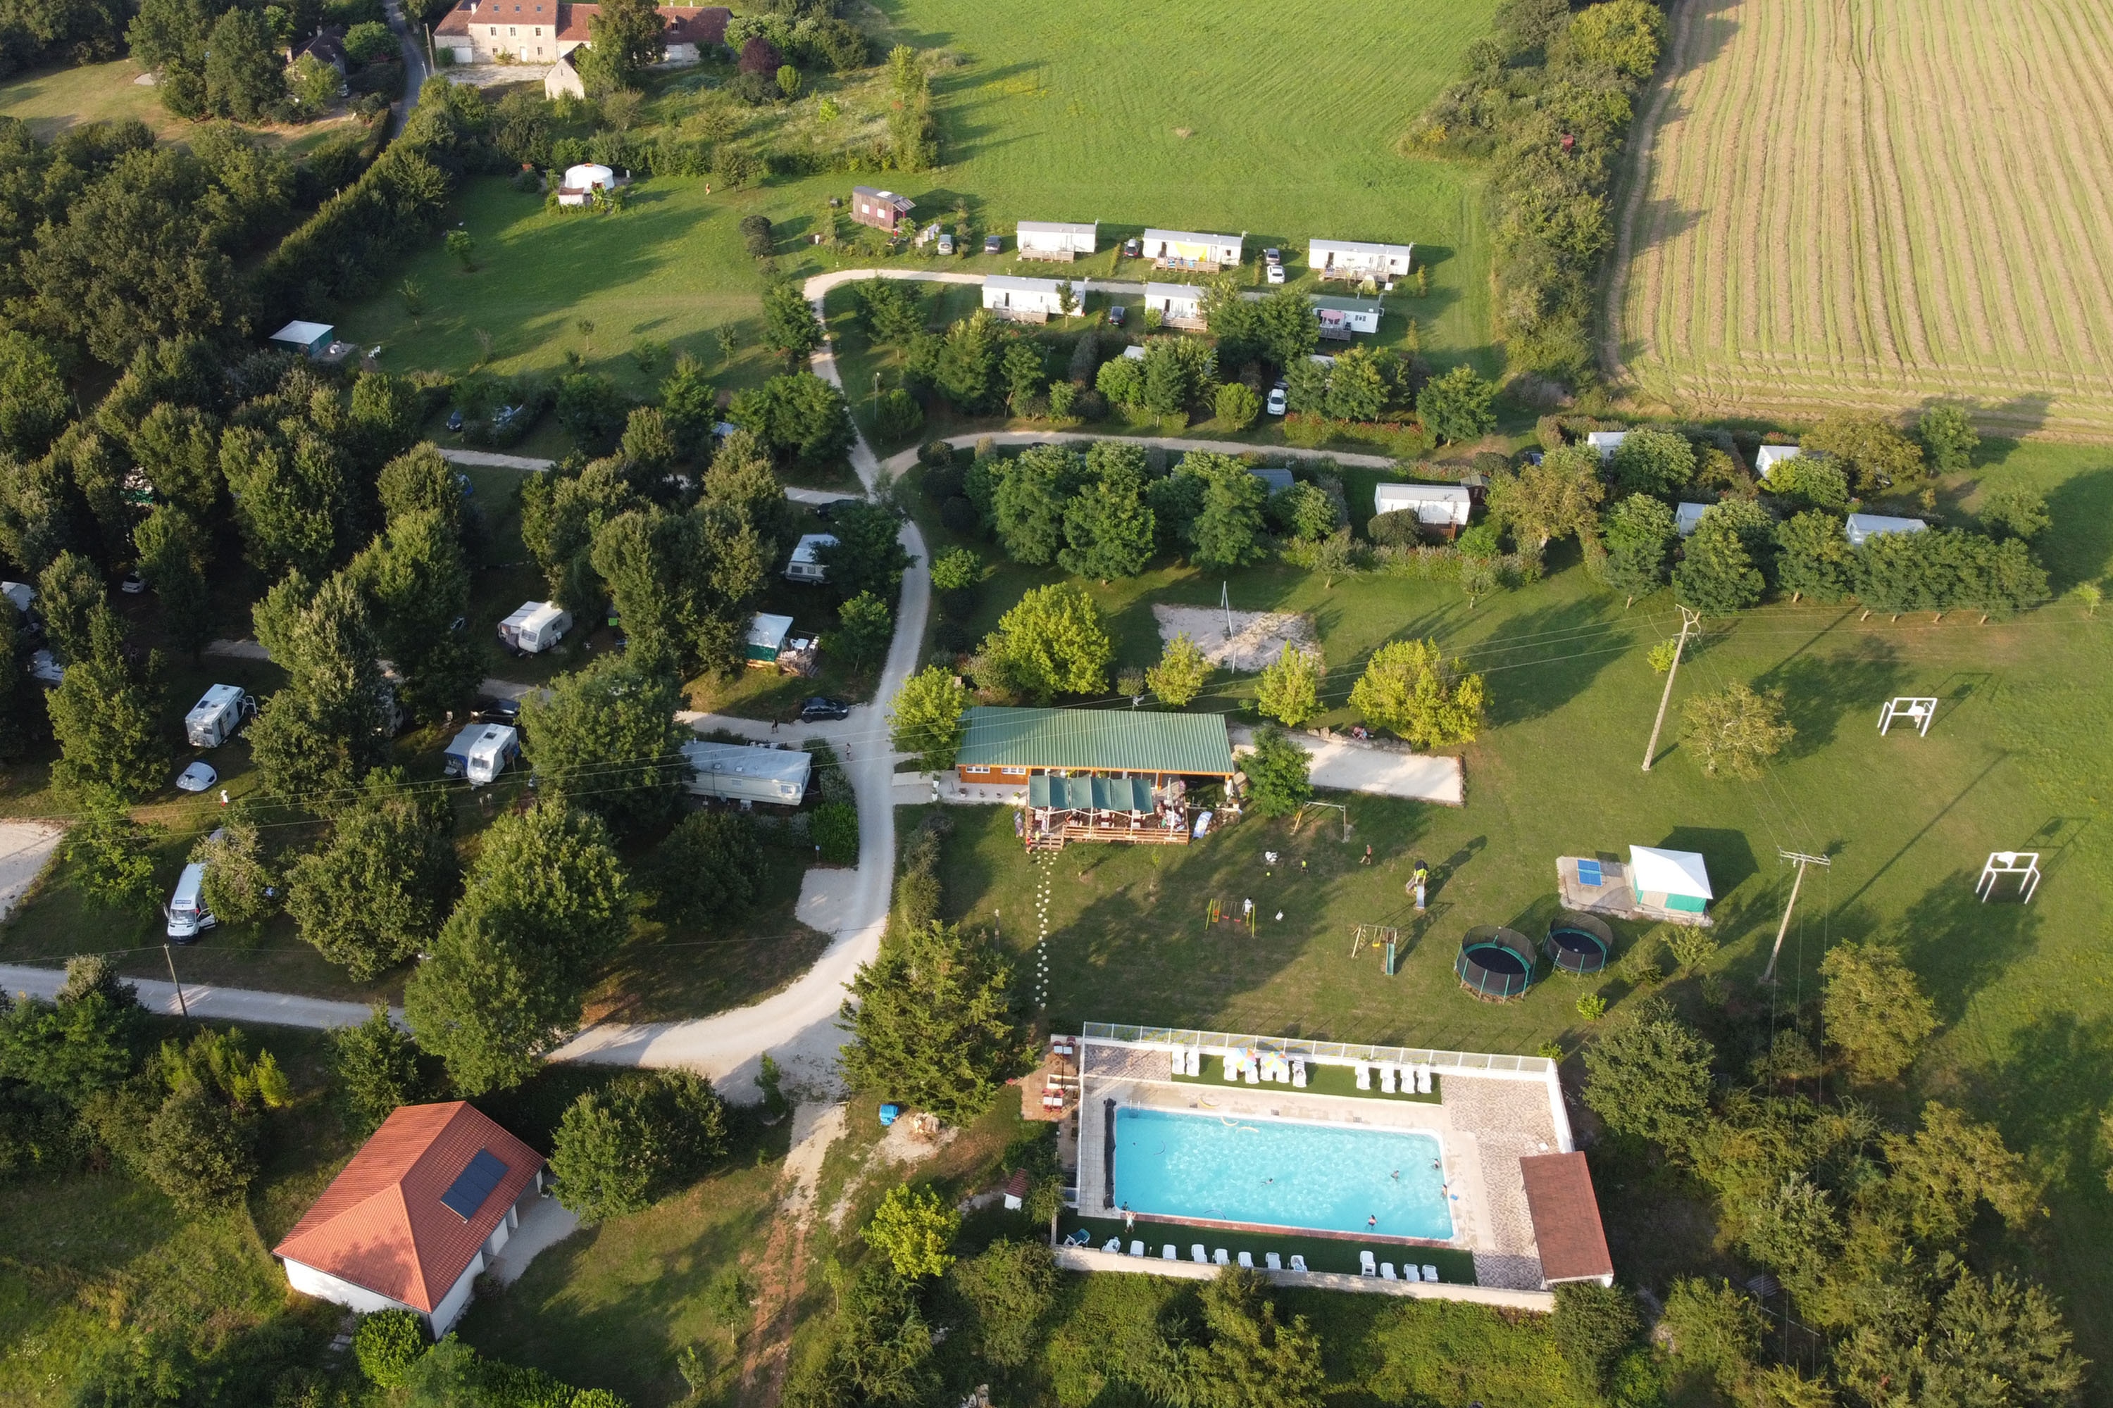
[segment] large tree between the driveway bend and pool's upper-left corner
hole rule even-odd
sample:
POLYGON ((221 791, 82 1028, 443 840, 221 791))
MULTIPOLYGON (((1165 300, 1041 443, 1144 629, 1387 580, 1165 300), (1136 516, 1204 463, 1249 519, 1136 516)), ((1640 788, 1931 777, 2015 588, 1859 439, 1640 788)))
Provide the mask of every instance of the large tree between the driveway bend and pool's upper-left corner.
POLYGON ((1029 1060, 1010 984, 1010 965, 978 931, 938 920, 890 925, 837 1017, 852 1032, 843 1077, 968 1123, 1029 1060))

